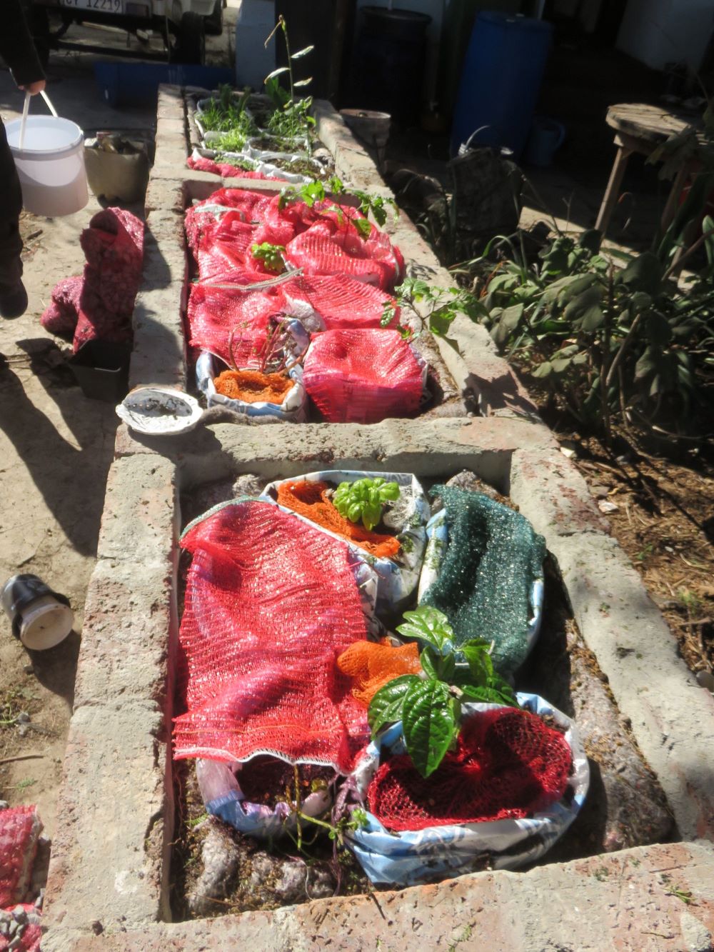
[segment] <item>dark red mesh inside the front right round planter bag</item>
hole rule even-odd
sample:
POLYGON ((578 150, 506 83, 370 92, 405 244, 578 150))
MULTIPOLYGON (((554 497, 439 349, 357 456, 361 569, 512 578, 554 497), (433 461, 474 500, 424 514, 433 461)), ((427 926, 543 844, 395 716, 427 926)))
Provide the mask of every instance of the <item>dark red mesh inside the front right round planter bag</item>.
POLYGON ((367 803, 391 830, 522 819, 565 793, 572 755, 564 736, 528 711, 468 718, 453 753, 425 778, 407 755, 377 770, 367 803))

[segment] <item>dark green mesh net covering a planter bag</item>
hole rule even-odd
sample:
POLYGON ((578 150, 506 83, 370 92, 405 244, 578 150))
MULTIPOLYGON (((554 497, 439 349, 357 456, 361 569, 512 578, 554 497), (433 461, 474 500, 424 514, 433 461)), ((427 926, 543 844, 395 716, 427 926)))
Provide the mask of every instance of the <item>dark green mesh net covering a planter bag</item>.
POLYGON ((526 658, 533 637, 533 583, 543 576, 545 539, 518 512, 483 493, 434 486, 446 509, 448 541, 439 577, 422 602, 443 611, 457 645, 494 641, 502 673, 526 658))

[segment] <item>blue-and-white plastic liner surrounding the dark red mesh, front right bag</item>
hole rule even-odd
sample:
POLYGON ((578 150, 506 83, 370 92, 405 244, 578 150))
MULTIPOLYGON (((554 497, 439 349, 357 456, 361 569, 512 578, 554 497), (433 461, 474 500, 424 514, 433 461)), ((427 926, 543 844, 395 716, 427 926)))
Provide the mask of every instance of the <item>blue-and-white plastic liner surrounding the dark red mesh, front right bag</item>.
MULTIPOLYGON (((566 728, 565 741, 573 755, 573 772, 565 795, 547 809, 524 820, 495 820, 430 826, 414 832, 390 833, 367 812, 367 826, 350 830, 345 837, 372 883, 410 886, 461 876, 488 861, 493 869, 517 869, 540 859, 563 836, 585 802, 590 770, 575 724, 561 711, 535 694, 518 694, 519 704, 540 717, 550 716, 566 728), (507 851, 507 854, 506 854, 507 851)), ((464 704, 469 713, 501 704, 464 704)), ((405 753, 402 724, 393 724, 367 747, 353 774, 361 798, 379 765, 380 752, 405 753)))

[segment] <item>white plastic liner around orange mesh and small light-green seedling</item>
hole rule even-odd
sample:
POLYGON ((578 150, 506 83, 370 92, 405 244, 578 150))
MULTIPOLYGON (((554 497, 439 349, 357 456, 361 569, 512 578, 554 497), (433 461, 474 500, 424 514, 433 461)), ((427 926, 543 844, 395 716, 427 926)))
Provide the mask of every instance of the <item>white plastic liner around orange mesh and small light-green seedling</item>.
MULTIPOLYGON (((398 483, 401 490, 400 498, 385 506, 383 516, 387 531, 395 535, 401 543, 399 554, 393 560, 378 559, 370 555, 366 549, 343 539, 342 536, 336 535, 323 526, 317 526, 316 523, 311 522, 299 513, 295 513, 295 515, 310 526, 315 526, 322 532, 327 532, 327 535, 332 536, 333 539, 339 539, 346 543, 356 556, 363 559, 367 565, 371 565, 377 576, 377 611, 393 614, 400 611, 414 594, 419 582, 426 547, 426 523, 430 509, 424 489, 412 473, 327 469, 320 472, 306 473, 304 476, 296 476, 293 480, 277 480, 274 483, 269 483, 260 498, 277 506, 278 486, 282 483, 326 482, 337 488, 340 483, 354 483, 358 479, 375 476, 381 476, 387 480, 387 483, 398 483)), ((285 506, 280 506, 280 508, 284 512, 292 511, 285 506)))

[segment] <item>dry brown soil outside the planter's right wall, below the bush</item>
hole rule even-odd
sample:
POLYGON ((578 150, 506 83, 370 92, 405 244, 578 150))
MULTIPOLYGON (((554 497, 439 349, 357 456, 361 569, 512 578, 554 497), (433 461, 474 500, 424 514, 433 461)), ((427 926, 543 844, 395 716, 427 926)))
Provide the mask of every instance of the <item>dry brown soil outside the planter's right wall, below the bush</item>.
POLYGON ((711 446, 664 440, 653 446, 643 434, 623 432, 606 446, 565 415, 539 408, 605 511, 612 535, 662 611, 684 662, 694 672, 714 671, 711 446), (617 509, 606 511, 606 504, 617 509))

